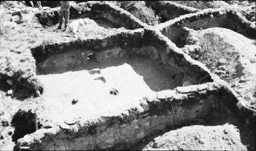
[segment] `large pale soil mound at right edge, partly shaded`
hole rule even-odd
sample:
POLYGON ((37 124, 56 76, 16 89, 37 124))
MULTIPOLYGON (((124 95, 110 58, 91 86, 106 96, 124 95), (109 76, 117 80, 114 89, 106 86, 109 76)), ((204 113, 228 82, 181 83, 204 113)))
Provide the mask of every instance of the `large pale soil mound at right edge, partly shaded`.
POLYGON ((220 78, 227 81, 246 100, 247 105, 255 110, 255 40, 223 28, 199 30, 194 36, 200 39, 204 51, 198 61, 215 72, 220 70, 218 61, 223 59, 225 66, 220 78))

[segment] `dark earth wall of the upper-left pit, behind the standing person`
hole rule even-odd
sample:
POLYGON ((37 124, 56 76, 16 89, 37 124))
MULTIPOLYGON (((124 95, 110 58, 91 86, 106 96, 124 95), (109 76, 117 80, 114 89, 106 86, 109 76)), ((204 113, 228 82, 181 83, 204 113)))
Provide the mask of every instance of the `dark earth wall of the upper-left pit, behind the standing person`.
MULTIPOLYGON (((45 25, 51 26, 52 24, 57 24, 59 20, 59 10, 55 9, 53 11, 41 11, 35 14, 38 21, 45 25)), ((129 12, 115 6, 109 2, 88 2, 79 3, 72 5, 70 8, 70 18, 105 18, 112 21, 115 24, 119 24, 125 29, 137 29, 146 26, 145 23, 141 22, 135 16, 131 15, 129 12)))

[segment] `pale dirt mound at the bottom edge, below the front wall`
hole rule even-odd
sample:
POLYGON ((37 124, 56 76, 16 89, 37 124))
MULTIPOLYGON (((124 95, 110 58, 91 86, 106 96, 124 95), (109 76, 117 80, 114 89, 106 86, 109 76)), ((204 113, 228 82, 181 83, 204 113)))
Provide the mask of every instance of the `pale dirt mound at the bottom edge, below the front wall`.
POLYGON ((143 150, 247 150, 234 125, 193 125, 167 132, 143 150))

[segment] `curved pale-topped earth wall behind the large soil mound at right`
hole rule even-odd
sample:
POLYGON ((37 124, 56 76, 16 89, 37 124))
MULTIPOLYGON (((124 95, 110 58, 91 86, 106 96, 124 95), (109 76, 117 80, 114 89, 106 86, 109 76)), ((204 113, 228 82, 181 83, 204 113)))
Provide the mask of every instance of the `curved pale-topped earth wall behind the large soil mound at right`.
POLYGON ((246 37, 256 38, 255 25, 236 11, 230 11, 229 9, 205 9, 157 25, 163 35, 174 42, 181 36, 182 27, 194 30, 221 27, 236 31, 246 37))

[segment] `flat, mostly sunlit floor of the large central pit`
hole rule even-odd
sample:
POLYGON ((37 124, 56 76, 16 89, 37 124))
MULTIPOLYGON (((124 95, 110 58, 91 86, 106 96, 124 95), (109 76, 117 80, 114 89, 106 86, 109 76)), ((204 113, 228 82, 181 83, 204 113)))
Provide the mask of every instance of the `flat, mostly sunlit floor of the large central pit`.
POLYGON ((49 106, 53 121, 119 115, 132 107, 140 108, 138 99, 147 94, 154 95, 154 91, 177 87, 168 76, 171 71, 161 68, 153 60, 122 58, 90 63, 89 68, 101 69, 100 75, 91 75, 87 68, 75 67, 72 70, 77 71, 68 72, 60 69, 56 70, 59 74, 38 76, 45 86, 42 97, 49 106), (105 78, 106 83, 94 80, 100 76, 105 78), (119 94, 110 94, 112 88, 116 88, 119 94), (76 105, 71 104, 74 98, 79 100, 76 105))

